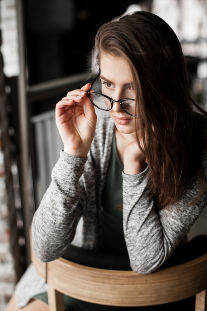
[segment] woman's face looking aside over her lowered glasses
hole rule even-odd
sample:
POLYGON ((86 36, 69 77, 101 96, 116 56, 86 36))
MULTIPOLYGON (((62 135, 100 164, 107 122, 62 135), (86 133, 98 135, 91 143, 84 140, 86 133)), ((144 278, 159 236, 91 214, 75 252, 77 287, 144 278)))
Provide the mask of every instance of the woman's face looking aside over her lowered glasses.
MULTIPOLYGON (((114 100, 135 99, 135 85, 129 64, 123 57, 100 55, 101 92, 114 100)), ((135 132, 136 118, 127 114, 120 102, 115 102, 109 111, 117 130, 123 134, 135 132)))

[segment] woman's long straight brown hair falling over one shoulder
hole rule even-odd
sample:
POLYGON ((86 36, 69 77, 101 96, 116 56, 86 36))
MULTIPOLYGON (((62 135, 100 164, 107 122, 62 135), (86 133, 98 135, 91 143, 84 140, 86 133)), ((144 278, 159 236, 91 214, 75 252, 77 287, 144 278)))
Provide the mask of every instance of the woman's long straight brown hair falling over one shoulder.
POLYGON ((102 25, 94 49, 98 65, 102 52, 122 56, 130 64, 137 86, 137 127, 149 166, 148 188, 159 208, 175 203, 197 176, 201 187, 192 202, 196 203, 204 187, 207 113, 192 98, 174 31, 157 15, 138 11, 102 25))

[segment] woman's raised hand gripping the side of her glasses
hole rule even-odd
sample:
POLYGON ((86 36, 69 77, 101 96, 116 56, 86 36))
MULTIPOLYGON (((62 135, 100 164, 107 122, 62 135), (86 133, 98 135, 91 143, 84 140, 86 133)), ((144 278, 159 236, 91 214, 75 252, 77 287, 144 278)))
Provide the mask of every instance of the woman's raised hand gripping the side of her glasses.
POLYGON ((56 104, 56 124, 64 143, 64 152, 86 157, 95 135, 97 116, 86 96, 90 83, 68 92, 56 104), (84 111, 85 104, 85 111, 84 111))

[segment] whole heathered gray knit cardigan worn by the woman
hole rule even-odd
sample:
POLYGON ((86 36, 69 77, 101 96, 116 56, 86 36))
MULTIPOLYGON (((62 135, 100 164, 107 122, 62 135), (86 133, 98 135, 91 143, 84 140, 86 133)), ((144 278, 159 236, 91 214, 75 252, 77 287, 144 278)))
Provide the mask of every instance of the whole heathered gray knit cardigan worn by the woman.
MULTIPOLYGON (((75 244, 89 249, 102 247, 101 194, 112 148, 114 123, 106 113, 98 118, 96 134, 87 158, 61 151, 52 171, 52 181, 32 221, 36 255, 47 262, 59 258, 75 244)), ((203 156, 207 180, 207 156, 203 156)), ((176 204, 155 211, 147 190, 148 167, 138 175, 123 171, 123 228, 132 270, 140 274, 155 271, 172 254, 207 205, 207 192, 191 205, 199 181, 186 186, 176 204)), ((16 286, 18 307, 47 291, 33 265, 16 286)))

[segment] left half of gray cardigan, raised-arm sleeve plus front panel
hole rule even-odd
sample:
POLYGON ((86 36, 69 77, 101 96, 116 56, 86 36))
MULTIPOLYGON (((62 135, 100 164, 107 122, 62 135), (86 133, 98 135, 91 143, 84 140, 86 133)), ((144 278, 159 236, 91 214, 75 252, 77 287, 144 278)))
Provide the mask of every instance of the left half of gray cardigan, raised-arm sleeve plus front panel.
POLYGON ((62 256, 73 241, 83 216, 78 246, 101 248, 101 195, 110 159, 114 123, 99 118, 87 158, 61 151, 52 171, 52 181, 32 221, 36 255, 47 262, 62 256))

